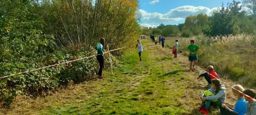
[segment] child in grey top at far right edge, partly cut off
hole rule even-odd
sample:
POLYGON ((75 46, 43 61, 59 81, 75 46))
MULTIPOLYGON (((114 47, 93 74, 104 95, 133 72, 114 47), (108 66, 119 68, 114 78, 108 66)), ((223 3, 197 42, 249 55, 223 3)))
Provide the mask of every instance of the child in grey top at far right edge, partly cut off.
MULTIPOLYGON (((256 97, 256 92, 253 89, 245 89, 243 93, 245 93, 246 95, 254 99, 256 97)), ((246 96, 245 96, 245 100, 248 101, 246 106, 247 107, 246 115, 256 115, 256 102, 246 96)))

